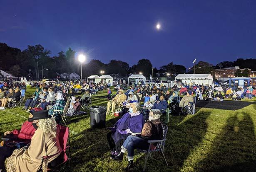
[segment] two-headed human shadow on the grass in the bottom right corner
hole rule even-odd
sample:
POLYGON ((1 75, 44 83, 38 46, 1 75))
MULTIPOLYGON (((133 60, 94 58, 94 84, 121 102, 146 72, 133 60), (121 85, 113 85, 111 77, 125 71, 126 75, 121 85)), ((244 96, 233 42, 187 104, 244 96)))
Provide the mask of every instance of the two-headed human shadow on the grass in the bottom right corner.
POLYGON ((197 170, 209 172, 255 171, 256 140, 254 128, 249 114, 243 112, 230 116, 226 121, 226 126, 213 141, 213 147, 207 157, 199 162, 199 169, 197 170))

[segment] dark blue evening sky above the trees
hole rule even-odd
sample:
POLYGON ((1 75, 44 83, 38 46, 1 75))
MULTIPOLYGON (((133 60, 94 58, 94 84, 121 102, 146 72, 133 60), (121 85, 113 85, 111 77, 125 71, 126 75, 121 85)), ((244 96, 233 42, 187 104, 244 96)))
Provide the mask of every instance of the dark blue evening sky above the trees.
POLYGON ((52 56, 71 47, 87 62, 215 65, 256 57, 255 9, 255 0, 1 0, 0 42, 41 44, 52 56))

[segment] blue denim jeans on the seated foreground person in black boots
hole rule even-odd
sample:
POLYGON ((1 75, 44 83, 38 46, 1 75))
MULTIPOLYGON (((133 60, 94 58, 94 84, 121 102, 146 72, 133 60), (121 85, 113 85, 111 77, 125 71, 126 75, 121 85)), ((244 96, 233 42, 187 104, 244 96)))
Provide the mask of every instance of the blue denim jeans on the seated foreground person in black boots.
POLYGON ((143 138, 128 136, 121 148, 127 150, 128 159, 132 159, 134 156, 134 149, 148 150, 149 143, 147 143, 147 140, 143 138))

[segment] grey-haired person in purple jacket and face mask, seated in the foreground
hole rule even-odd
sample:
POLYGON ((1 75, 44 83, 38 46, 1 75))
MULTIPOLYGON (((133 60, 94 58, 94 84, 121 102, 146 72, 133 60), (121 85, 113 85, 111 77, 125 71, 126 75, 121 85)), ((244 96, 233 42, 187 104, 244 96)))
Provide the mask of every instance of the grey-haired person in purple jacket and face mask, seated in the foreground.
POLYGON ((129 112, 124 114, 107 133, 107 140, 111 150, 111 155, 118 155, 121 150, 121 145, 130 135, 136 135, 142 131, 144 119, 139 111, 139 103, 131 103, 129 112))

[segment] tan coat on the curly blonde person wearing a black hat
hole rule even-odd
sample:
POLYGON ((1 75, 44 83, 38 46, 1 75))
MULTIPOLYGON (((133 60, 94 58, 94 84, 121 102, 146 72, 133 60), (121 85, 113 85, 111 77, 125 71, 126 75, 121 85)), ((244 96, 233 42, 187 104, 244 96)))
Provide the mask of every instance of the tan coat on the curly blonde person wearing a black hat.
MULTIPOLYGON (((55 136, 37 130, 27 150, 15 149, 7 159, 6 170, 7 172, 37 172, 42 164, 42 157, 58 153, 59 148, 60 145, 57 144, 55 136)), ((58 155, 51 157, 48 162, 52 162, 58 155)), ((43 162, 43 172, 47 171, 48 162, 43 162)))

